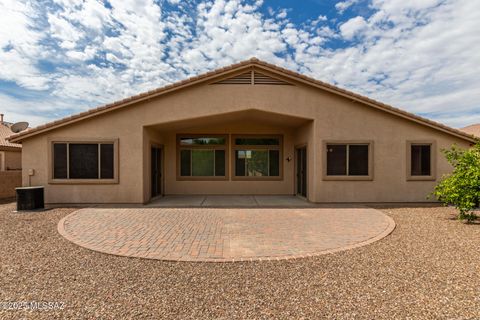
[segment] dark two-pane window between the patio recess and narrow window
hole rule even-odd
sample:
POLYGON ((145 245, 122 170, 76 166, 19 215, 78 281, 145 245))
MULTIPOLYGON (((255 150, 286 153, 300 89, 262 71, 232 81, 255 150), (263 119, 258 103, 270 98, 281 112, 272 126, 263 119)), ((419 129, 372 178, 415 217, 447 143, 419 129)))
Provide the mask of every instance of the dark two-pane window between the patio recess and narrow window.
POLYGON ((371 180, 371 142, 325 143, 325 180, 371 180))

